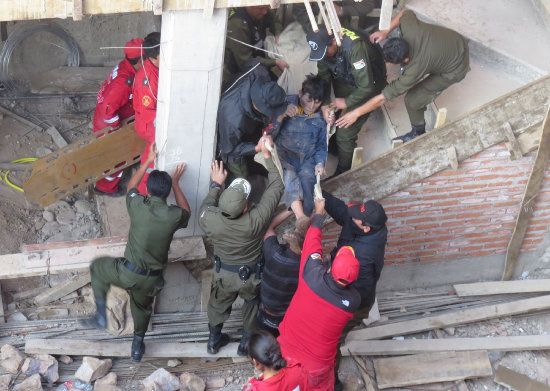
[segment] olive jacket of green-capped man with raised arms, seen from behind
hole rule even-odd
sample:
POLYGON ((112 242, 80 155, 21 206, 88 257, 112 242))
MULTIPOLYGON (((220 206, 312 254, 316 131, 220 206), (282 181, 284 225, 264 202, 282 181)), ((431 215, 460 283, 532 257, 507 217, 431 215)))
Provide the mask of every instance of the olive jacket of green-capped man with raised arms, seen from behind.
POLYGON ((229 219, 218 209, 220 190, 211 188, 200 208, 199 224, 212 239, 214 254, 229 265, 251 265, 260 259, 263 238, 283 195, 283 181, 272 159, 266 159, 269 183, 262 199, 246 213, 229 219))

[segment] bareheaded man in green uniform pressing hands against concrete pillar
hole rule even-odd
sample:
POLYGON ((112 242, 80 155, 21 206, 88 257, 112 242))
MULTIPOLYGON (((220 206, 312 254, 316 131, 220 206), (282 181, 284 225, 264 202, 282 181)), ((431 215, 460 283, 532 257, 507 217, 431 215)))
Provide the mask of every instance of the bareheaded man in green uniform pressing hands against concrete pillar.
POLYGON ((90 265, 97 313, 83 321, 87 326, 104 329, 105 298, 110 286, 126 289, 134 319, 134 362, 141 361, 145 352, 143 338, 151 318, 153 299, 164 287, 162 272, 168 261, 170 242, 178 229, 187 227, 190 216, 189 203, 179 186, 185 164, 177 165, 171 176, 165 171, 153 170, 147 178, 147 196, 139 194, 137 185, 156 156, 155 143, 152 143, 145 163, 128 183, 126 208, 130 215, 130 231, 124 258, 101 257, 90 265), (166 204, 170 189, 178 206, 166 204))

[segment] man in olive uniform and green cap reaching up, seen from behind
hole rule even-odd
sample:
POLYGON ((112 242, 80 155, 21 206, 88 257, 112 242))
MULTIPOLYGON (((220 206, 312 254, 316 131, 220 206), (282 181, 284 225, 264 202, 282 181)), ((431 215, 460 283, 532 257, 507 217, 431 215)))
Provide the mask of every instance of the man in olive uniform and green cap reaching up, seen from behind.
POLYGON ((250 183, 244 178, 235 179, 221 192, 227 171, 222 162, 215 161, 211 168, 210 191, 200 208, 199 224, 212 239, 216 261, 208 301, 210 336, 207 350, 210 354, 216 354, 229 342, 229 336, 222 334, 222 327, 237 296, 244 299, 244 331, 237 350, 240 356, 246 355, 248 338, 255 330, 263 236, 284 190, 266 142, 274 145, 270 136, 263 136, 256 145, 256 151, 264 155, 269 180, 260 202, 248 204, 250 183))

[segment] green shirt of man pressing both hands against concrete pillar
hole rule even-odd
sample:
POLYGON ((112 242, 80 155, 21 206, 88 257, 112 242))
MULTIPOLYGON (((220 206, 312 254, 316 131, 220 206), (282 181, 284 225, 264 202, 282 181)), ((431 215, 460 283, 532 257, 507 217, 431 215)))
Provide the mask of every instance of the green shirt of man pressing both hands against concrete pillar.
POLYGON ((167 205, 159 197, 147 198, 131 189, 126 195, 130 232, 124 257, 142 269, 164 269, 174 233, 187 227, 189 213, 167 205))

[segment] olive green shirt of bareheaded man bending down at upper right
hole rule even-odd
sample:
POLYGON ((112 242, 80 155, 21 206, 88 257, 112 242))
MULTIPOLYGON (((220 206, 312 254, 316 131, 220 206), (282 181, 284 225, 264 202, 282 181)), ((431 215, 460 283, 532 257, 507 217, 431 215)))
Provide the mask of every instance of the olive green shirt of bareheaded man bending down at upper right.
POLYGON ((402 75, 382 91, 386 100, 404 94, 428 74, 453 79, 468 71, 468 43, 456 31, 421 22, 410 10, 403 13, 399 26, 409 44, 409 62, 402 75))

